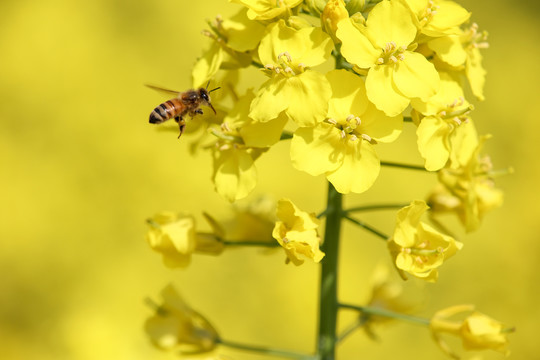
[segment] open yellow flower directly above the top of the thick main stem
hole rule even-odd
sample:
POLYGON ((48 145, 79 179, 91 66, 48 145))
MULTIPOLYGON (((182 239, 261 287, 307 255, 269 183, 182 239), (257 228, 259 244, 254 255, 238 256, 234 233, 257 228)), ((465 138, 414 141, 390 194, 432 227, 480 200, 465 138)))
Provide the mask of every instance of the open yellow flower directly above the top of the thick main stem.
POLYGON ((395 140, 401 133, 402 117, 388 117, 369 103, 359 76, 333 70, 326 78, 332 89, 327 120, 296 130, 291 160, 310 175, 325 174, 343 194, 361 193, 379 174, 373 144, 395 140))

